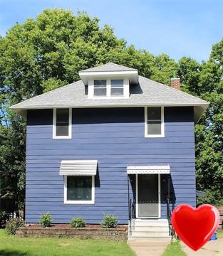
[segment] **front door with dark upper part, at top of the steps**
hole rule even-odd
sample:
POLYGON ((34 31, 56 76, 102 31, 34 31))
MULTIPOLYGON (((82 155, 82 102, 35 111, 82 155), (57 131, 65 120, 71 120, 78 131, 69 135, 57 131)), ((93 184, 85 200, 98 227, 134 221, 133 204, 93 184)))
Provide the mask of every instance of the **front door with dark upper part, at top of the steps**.
POLYGON ((137 174, 137 218, 160 218, 160 174, 137 174))

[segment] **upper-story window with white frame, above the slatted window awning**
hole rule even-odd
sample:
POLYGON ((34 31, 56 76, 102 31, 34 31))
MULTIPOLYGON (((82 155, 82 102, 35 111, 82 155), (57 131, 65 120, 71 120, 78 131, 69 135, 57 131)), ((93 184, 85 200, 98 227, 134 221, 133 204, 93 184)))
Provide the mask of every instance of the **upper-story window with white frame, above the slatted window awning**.
POLYGON ((53 139, 71 139, 72 109, 53 110, 53 139))

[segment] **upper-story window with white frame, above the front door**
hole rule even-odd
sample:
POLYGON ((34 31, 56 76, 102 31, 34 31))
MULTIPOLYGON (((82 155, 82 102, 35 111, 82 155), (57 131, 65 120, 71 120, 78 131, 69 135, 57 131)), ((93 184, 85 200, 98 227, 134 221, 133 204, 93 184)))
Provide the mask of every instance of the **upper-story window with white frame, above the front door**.
POLYGON ((165 137, 164 107, 145 107, 145 137, 165 137))

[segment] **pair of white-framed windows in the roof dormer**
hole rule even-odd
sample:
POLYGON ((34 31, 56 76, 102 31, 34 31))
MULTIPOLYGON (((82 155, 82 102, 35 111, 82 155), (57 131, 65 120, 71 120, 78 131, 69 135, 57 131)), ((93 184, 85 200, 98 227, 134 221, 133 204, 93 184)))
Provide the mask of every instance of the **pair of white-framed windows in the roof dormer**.
POLYGON ((88 84, 88 98, 129 97, 128 79, 95 79, 88 84))

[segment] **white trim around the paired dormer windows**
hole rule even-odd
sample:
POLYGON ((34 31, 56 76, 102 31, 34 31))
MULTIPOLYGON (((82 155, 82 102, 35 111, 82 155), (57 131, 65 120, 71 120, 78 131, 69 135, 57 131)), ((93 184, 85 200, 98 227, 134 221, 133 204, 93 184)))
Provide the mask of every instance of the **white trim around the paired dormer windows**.
POLYGON ((88 80, 88 99, 127 99, 130 95, 129 89, 129 80, 128 78, 98 78, 98 79, 90 79, 88 80), (94 80, 106 80, 106 96, 95 96, 94 95, 94 80), (123 95, 113 96, 110 94, 111 92, 111 80, 123 80, 123 95))

